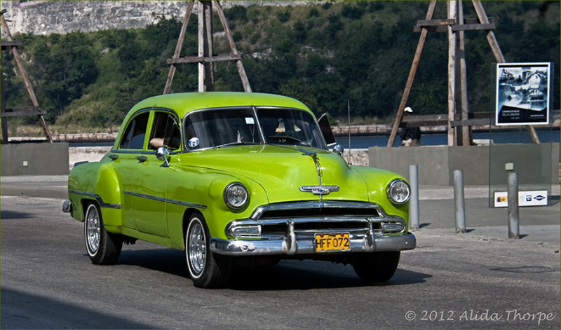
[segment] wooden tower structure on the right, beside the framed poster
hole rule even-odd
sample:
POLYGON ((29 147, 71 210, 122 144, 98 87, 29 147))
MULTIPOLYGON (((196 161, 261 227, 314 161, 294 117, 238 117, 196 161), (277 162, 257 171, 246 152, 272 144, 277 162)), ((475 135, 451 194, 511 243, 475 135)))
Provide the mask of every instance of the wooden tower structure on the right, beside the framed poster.
MULTIPOLYGON (((440 1, 443 2, 443 1, 440 1)), ((426 36, 428 32, 447 32, 448 33, 448 114, 447 116, 411 116, 408 120, 409 123, 405 125, 439 125, 446 124, 448 132, 448 145, 449 146, 468 146, 471 144, 471 126, 472 125, 485 125, 489 124, 489 116, 487 118, 470 118, 468 112, 468 88, 466 79, 466 58, 465 58, 465 43, 464 32, 470 30, 485 30, 487 32, 487 41, 491 46, 493 55, 498 63, 506 62, 499 43, 497 43, 493 29, 495 28, 492 18, 487 17, 485 9, 481 1, 471 1, 475 12, 478 15, 477 19, 464 18, 463 4, 461 0, 445 1, 447 4, 447 19, 434 20, 433 13, 437 1, 433 0, 428 5, 425 20, 417 21, 414 27, 414 32, 420 32, 419 43, 417 43, 417 50, 413 57, 410 73, 405 83, 405 90, 398 107, 396 120, 391 128, 391 134, 388 139, 387 146, 393 146, 396 135, 400 125, 403 121, 403 111, 407 104, 411 87, 421 53, 423 52, 426 36), (417 123, 414 123, 417 122, 417 123)), ((539 143, 536 131, 530 125, 527 126, 532 141, 539 143)))

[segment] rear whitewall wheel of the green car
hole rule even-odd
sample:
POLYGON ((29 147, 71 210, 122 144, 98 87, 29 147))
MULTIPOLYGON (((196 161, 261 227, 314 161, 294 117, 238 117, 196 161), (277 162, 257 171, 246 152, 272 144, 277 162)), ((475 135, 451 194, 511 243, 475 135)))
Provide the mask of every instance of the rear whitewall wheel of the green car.
POLYGON ((119 235, 105 231, 100 208, 94 203, 88 205, 83 222, 86 250, 92 263, 98 265, 115 263, 121 254, 123 240, 119 235))

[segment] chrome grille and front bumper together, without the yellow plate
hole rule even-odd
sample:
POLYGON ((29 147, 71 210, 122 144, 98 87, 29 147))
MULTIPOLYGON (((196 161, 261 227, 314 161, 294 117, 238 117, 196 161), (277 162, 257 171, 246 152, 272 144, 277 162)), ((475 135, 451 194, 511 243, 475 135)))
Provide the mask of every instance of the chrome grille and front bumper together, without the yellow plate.
POLYGON ((316 234, 349 234, 347 252, 414 249, 407 223, 372 202, 288 202, 258 207, 249 219, 231 221, 227 240, 212 238, 210 250, 229 256, 326 254, 316 234))

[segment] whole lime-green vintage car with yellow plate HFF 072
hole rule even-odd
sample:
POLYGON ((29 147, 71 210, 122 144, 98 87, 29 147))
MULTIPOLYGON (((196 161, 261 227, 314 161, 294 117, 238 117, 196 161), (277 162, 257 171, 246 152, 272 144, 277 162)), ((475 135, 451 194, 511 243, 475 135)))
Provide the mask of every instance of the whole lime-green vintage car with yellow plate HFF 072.
POLYGON ((326 117, 318 124, 290 97, 151 97, 130 109, 100 162, 75 165, 63 209, 84 222, 93 263, 146 240, 184 250, 197 287, 223 285, 234 264, 280 259, 350 263, 367 282, 389 280, 416 245, 410 187, 327 144, 326 117))

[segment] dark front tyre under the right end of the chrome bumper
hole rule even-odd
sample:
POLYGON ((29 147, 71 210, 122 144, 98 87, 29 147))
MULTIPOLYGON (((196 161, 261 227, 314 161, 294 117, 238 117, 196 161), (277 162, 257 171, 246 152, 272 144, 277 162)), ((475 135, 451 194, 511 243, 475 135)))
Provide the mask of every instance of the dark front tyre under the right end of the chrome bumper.
POLYGON ((365 282, 386 282, 396 273, 399 257, 399 251, 358 254, 353 268, 365 282))

